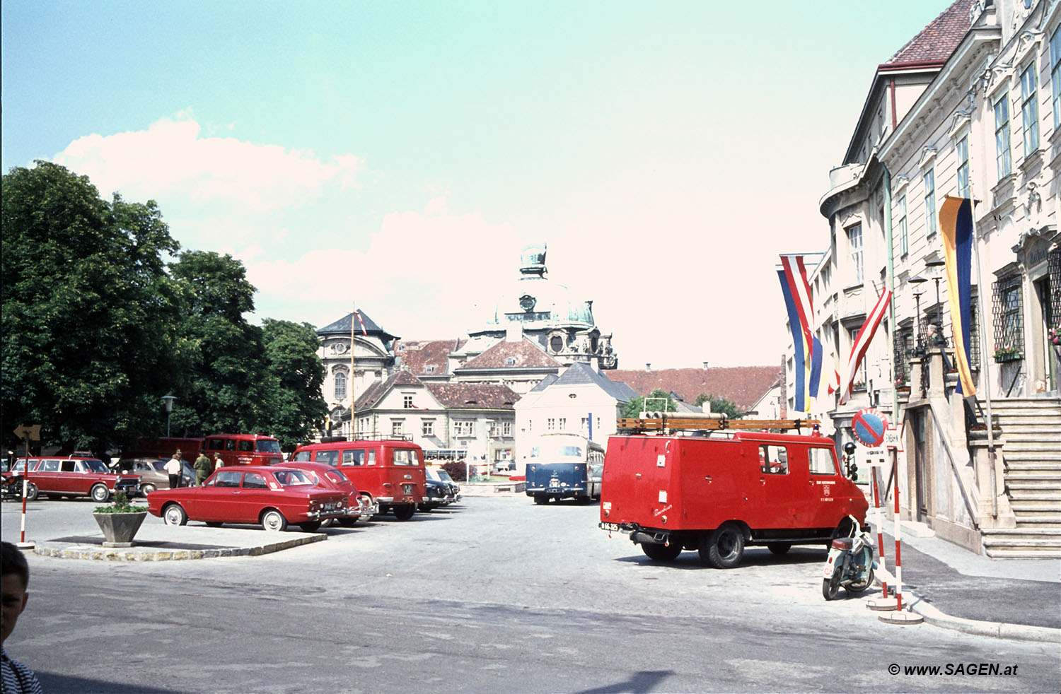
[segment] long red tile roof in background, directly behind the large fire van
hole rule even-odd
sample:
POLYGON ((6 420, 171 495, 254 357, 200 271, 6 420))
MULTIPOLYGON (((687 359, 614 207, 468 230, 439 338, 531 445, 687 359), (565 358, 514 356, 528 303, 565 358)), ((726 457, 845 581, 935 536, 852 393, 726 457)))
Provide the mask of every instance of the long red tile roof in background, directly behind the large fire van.
POLYGON ((712 369, 662 369, 660 371, 609 371, 608 377, 647 395, 657 388, 674 391, 690 405, 707 393, 732 401, 741 409, 754 405, 784 374, 779 367, 730 367, 712 369))

